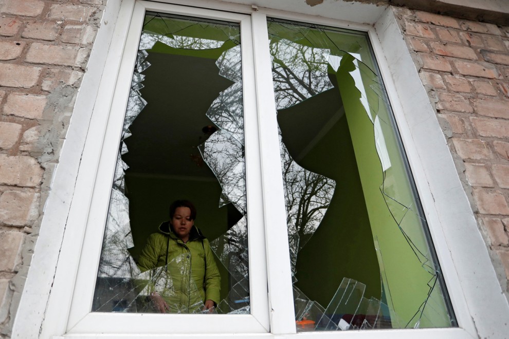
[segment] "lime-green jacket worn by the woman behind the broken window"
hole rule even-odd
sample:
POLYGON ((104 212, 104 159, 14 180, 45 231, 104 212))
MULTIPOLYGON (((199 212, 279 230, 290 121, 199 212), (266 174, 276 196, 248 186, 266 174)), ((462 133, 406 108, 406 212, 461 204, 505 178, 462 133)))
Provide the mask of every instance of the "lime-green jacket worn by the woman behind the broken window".
POLYGON ((209 241, 193 226, 184 243, 166 221, 153 233, 138 258, 138 267, 151 273, 150 288, 165 298, 172 313, 196 313, 205 300, 220 302, 221 275, 209 241), (157 267, 167 266, 166 270, 157 267))

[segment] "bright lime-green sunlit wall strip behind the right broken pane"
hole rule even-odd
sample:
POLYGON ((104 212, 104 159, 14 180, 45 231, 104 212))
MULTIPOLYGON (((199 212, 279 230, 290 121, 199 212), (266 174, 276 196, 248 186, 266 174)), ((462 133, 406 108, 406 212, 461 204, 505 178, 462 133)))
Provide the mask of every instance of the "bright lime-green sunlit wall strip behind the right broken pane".
MULTIPOLYGON (((424 268, 420 260, 415 255, 408 239, 416 245, 417 248, 426 249, 426 240, 423 236, 422 224, 415 213, 405 211, 401 212, 401 205, 392 201, 390 208, 382 194, 380 187, 385 184, 384 192, 389 192, 396 202, 403 202, 407 206, 412 206, 412 191, 409 187, 405 167, 403 166, 399 149, 395 143, 393 132, 388 123, 382 122, 382 130, 385 130, 384 140, 391 161, 390 168, 386 171, 385 177, 382 171, 381 163, 375 148, 375 133, 373 123, 366 114, 365 108, 359 100, 360 91, 356 88, 354 79, 350 72, 356 69, 353 64, 353 58, 343 57, 341 66, 337 71, 337 83, 341 98, 343 100, 350 133, 352 136, 353 148, 359 168, 362 190, 366 199, 368 215, 371 222, 373 238, 379 243, 380 270, 383 271, 383 283, 389 300, 389 307, 392 310, 393 326, 404 327, 414 317, 420 309, 421 304, 426 300, 429 292, 428 281, 432 278, 424 268), (396 216, 396 219, 393 217, 396 216), (404 217, 403 217, 404 215, 404 217), (399 221, 401 219, 401 222, 399 221), (401 227, 398 227, 398 223, 401 227), (402 232, 402 230, 404 232, 402 232), (404 236, 407 235, 407 238, 404 236), (401 319, 399 324, 394 324, 395 314, 401 319)), ((372 85, 368 78, 363 78, 365 87, 369 93, 369 86, 372 85)), ((382 105, 375 105, 373 102, 379 99, 376 93, 368 94, 371 107, 376 107, 376 114, 381 119, 387 120, 387 111, 382 105)), ((374 115, 372 115, 374 117, 374 115)), ((392 199, 388 199, 389 201, 392 199)), ((432 263, 429 265, 433 266, 432 263)), ((434 293, 439 292, 439 288, 434 293)), ((436 303, 434 307, 440 306, 440 298, 434 297, 436 303)), ((448 316, 443 307, 427 307, 426 317, 423 317, 421 327, 447 327, 450 326, 448 316)), ((413 326, 411 323, 409 326, 413 326)))

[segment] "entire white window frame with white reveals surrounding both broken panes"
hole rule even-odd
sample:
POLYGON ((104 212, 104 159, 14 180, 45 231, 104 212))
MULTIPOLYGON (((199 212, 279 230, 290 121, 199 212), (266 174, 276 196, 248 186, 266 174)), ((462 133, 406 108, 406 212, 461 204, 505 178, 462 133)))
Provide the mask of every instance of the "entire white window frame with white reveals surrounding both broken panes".
MULTIPOLYGON (((30 268, 13 337, 30 337, 29 333, 38 333, 43 338, 59 335, 88 338, 97 337, 98 333, 111 333, 108 337, 118 338, 141 333, 153 335, 160 333, 157 337, 186 338, 194 337, 189 335, 190 333, 199 333, 196 337, 218 333, 221 333, 221 336, 228 336, 242 332, 245 334, 235 337, 287 337, 295 334, 289 260, 285 255, 280 255, 287 254, 288 249, 287 244, 284 245, 285 241, 281 241, 286 240, 286 216, 281 172, 278 171, 279 149, 271 148, 272 145, 279 144, 279 141, 266 40, 266 16, 368 32, 459 323, 458 328, 446 329, 309 332, 295 335, 305 338, 339 336, 469 338, 485 336, 497 330, 503 331, 500 323, 503 323, 502 319, 509 315, 507 300, 500 293, 492 263, 477 230, 476 221, 435 117, 435 111, 419 80, 391 10, 335 1, 325 1, 323 6, 316 6, 313 9, 290 1, 279 1, 274 4, 269 0, 260 0, 257 1, 258 7, 250 6, 250 2, 244 0, 233 1, 244 4, 228 5, 225 2, 206 0, 160 0, 196 7, 182 9, 170 4, 123 0, 118 17, 108 12, 110 27, 107 27, 108 23, 103 20, 100 33, 109 32, 110 35, 105 36, 112 37, 111 42, 106 43, 108 48, 105 48, 106 45, 98 46, 98 40, 102 37, 99 34, 94 46, 95 49, 104 47, 102 53, 106 53, 102 64, 104 66, 99 68, 102 78, 98 80, 97 71, 95 73, 92 71, 92 74, 96 74, 96 79, 90 79, 87 74, 81 89, 83 91, 89 88, 87 87, 90 86, 89 83, 99 86, 99 90, 95 92, 97 94, 91 120, 85 121, 88 126, 86 142, 83 140, 82 153, 79 142, 64 145, 62 151, 62 166, 67 165, 65 162, 67 154, 79 152, 81 155, 74 197, 69 197, 72 201, 68 202, 69 210, 63 216, 49 210, 49 207, 58 207, 58 203, 64 202, 66 198, 59 196, 61 192, 68 192, 59 185, 73 182, 72 178, 66 178, 66 173, 57 171, 52 185, 52 195, 48 198, 49 207, 43 219, 44 226, 63 217, 65 219, 63 225, 66 225, 62 229, 63 238, 51 242, 48 239, 52 235, 41 233, 32 261, 32 267, 37 266, 30 268), (250 14, 252 31, 249 29, 251 24, 248 25, 246 22, 242 24, 244 19, 239 19, 239 15, 225 12, 219 15, 224 20, 241 22, 245 34, 241 37, 243 50, 252 46, 253 51, 250 53, 251 56, 243 54, 243 76, 256 79, 257 84, 256 87, 250 87, 248 85, 250 81, 244 84, 246 87, 244 107, 252 109, 251 112, 245 113, 246 145, 251 145, 249 149, 246 148, 249 225, 264 225, 264 228, 257 228, 259 232, 253 234, 251 229, 255 228, 251 227, 249 233, 249 265, 252 272, 251 315, 171 315, 170 318, 160 314, 89 312, 93 295, 93 287, 92 292, 90 290, 90 274, 95 277, 97 272, 102 244, 97 240, 97 236, 99 234, 99 239, 102 239, 120 127, 137 50, 135 48, 133 52, 129 46, 137 46, 141 30, 140 18, 137 15, 140 6, 147 7, 147 10, 170 10, 174 13, 185 15, 194 13, 204 17, 211 13, 204 8, 250 14), (294 12, 285 11, 288 9, 294 12), (341 14, 341 10, 346 10, 346 14, 344 12, 341 14), (315 15, 305 14, 309 12, 315 15), (345 18, 369 24, 356 24, 344 20, 345 18), (112 31, 111 25, 114 25, 115 31, 112 31), (132 29, 127 34, 129 27, 132 29), (123 53, 124 50, 126 53, 123 53), (255 65, 255 68, 249 65, 255 65), (117 83, 118 86, 115 85, 117 83), (254 98, 264 100, 256 101, 254 98), (110 111, 121 111, 121 118, 119 114, 106 114, 110 111), (60 242, 61 247, 57 248, 60 256, 49 263, 54 264, 56 273, 54 277, 48 277, 40 268, 46 263, 41 246, 48 244, 60 246, 60 242), (38 286, 38 279, 44 280, 43 282, 50 281, 52 288, 51 292, 48 290, 47 293, 41 294, 43 300, 35 306, 35 310, 31 310, 33 300, 30 300, 30 297, 38 295, 37 292, 33 292, 38 286), (265 294, 267 292, 268 298, 265 294), (171 325, 165 326, 165 323, 171 325), (269 326, 270 333, 263 334, 269 326), (170 331, 171 333, 168 333, 170 331)), ((115 3, 115 0, 108 2, 110 6, 108 8, 118 8, 119 5, 112 5, 112 2, 115 3)), ((218 18, 215 15, 211 17, 218 18)), ((91 55, 91 62, 93 57, 94 55, 91 55)), ((89 67, 93 67, 93 64, 89 64, 89 67)), ((78 103, 90 100, 84 99, 85 95, 86 93, 80 93, 77 107, 78 103)), ((77 110, 75 109, 75 115, 77 110)), ((76 119, 78 123, 80 122, 79 118, 73 116, 69 133, 72 128, 79 128, 76 125, 76 119)), ((57 211, 61 213, 62 209, 57 211)), ((52 250, 54 252, 54 249, 52 250)), ((502 335, 504 332, 498 333, 502 335)))

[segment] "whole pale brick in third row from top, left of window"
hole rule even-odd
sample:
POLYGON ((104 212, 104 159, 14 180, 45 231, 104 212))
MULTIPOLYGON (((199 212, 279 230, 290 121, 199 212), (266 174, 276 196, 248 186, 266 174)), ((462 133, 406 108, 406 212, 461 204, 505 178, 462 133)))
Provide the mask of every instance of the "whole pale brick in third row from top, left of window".
POLYGON ((78 50, 79 47, 33 43, 28 49, 26 60, 36 64, 74 66, 78 50))

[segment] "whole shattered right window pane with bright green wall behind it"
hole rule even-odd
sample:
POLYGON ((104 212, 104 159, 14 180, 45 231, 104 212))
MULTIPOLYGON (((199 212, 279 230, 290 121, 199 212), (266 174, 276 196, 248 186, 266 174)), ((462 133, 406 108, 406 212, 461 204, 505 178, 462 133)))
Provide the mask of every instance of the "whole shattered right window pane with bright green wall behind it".
POLYGON ((367 34, 267 24, 297 330, 457 326, 367 34))

